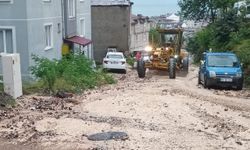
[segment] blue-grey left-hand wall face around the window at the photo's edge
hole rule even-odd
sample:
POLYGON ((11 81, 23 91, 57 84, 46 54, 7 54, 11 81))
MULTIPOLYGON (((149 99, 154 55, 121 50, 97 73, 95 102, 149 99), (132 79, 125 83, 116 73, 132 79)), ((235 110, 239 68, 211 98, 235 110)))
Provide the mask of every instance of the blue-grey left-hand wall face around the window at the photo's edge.
MULTIPOLYGON (((20 53, 21 71, 23 75, 28 74, 28 35, 27 35, 27 12, 26 0, 13 0, 13 3, 0 3, 0 26, 1 28, 13 27, 15 37, 13 42, 16 45, 16 52, 20 53)), ((2 64, 0 59, 0 74, 2 64)))

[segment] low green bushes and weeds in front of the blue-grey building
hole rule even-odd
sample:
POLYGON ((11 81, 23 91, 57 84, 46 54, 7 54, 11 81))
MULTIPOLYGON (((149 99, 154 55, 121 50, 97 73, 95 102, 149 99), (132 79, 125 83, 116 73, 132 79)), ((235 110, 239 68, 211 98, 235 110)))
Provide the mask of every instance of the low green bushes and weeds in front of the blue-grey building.
POLYGON ((33 60, 35 65, 31 67, 31 73, 48 92, 81 92, 115 83, 114 78, 101 69, 94 70, 92 62, 83 55, 68 55, 61 60, 33 56, 33 60))

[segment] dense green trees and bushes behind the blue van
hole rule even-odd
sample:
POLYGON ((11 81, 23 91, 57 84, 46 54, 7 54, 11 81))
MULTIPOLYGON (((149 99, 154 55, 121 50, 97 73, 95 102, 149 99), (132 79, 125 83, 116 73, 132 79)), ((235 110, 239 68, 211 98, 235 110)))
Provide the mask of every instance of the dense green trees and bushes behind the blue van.
POLYGON ((202 53, 232 51, 244 64, 246 83, 250 85, 250 21, 246 9, 234 8, 237 0, 203 1, 182 0, 179 2, 184 19, 209 21, 209 25, 188 40, 187 50, 199 62, 202 53), (205 9, 206 8, 206 9, 205 9), (239 13, 240 12, 240 13, 239 13))

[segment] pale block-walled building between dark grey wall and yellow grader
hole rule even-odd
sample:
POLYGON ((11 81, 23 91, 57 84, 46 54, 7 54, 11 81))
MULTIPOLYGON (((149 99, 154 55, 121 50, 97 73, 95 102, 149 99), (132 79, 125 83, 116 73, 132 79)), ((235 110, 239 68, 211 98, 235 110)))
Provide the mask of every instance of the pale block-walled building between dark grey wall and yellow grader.
POLYGON ((131 15, 130 52, 142 51, 149 45, 151 23, 149 17, 131 15))

